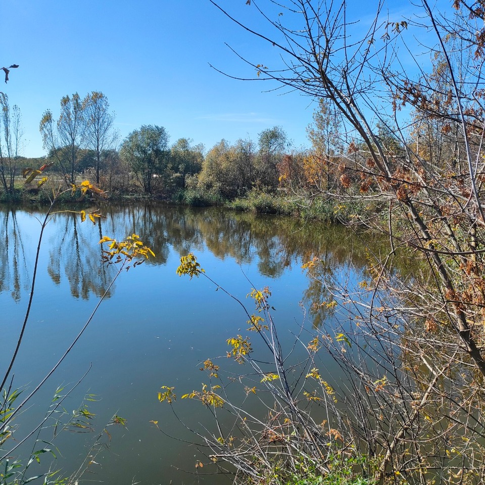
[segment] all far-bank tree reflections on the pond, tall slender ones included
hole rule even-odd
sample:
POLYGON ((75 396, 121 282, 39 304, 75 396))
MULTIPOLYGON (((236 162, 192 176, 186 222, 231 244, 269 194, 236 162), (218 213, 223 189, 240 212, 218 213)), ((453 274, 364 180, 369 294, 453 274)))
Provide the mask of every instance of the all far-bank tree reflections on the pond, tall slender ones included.
MULTIPOLYGON (((6 234, 6 248, 0 255, 0 293, 11 292, 16 301, 30 283, 22 240, 26 227, 19 226, 17 212, 6 207, 0 211, 6 234)), ((33 214, 40 218, 42 210, 33 214)), ((103 208, 103 214, 95 225, 81 223, 79 215, 69 211, 56 214, 49 223, 53 227, 47 273, 56 285, 67 283, 76 299, 99 298, 115 275, 115 267, 101 263, 99 240, 104 235, 120 239, 137 233, 156 254, 147 264, 166 264, 171 250, 182 256, 207 249, 220 260, 230 257, 241 264, 256 264, 259 273, 269 278, 278 278, 286 269, 318 257, 318 277, 309 273, 302 296, 308 307, 329 296, 326 282, 337 268, 352 260, 354 270, 363 272, 368 263, 369 240, 340 226, 219 208, 110 205, 103 208)), ((386 241, 372 241, 374 250, 379 246, 385 251, 386 241)), ((399 267, 400 262, 394 264, 399 267)), ((115 290, 113 286, 107 296, 115 290)), ((313 323, 318 326, 327 310, 324 306, 312 308, 313 323)))

